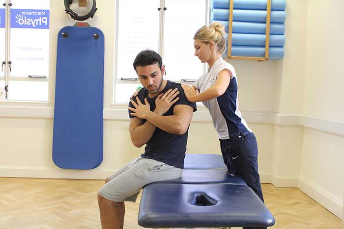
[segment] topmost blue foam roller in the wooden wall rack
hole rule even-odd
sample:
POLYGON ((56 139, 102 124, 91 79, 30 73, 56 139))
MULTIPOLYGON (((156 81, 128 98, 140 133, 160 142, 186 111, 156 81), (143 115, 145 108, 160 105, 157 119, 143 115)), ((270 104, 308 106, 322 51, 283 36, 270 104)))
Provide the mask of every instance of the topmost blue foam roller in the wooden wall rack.
MULTIPOLYGON (((286 0, 271 0, 271 10, 285 10, 286 0)), ((266 10, 267 0, 234 0, 234 9, 266 10)), ((229 0, 212 0, 212 8, 229 9, 229 0)))

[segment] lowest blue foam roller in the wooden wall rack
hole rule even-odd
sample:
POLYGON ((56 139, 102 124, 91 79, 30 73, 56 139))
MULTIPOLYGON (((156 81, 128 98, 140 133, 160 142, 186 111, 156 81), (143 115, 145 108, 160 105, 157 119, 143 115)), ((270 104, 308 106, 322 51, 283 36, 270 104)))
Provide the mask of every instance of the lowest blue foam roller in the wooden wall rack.
MULTIPOLYGON (((228 49, 226 48, 224 55, 227 56, 228 49)), ((232 56, 250 56, 250 57, 264 57, 265 47, 258 46, 232 46, 232 56)), ((269 59, 283 59, 284 48, 283 47, 270 47, 269 59)))

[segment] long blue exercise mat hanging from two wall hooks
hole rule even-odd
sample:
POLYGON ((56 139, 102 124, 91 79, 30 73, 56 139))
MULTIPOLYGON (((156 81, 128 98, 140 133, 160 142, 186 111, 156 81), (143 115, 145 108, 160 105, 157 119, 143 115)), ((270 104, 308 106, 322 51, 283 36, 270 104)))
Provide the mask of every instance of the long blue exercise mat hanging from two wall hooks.
POLYGON ((57 36, 53 161, 92 169, 103 160, 104 34, 63 27, 57 36))

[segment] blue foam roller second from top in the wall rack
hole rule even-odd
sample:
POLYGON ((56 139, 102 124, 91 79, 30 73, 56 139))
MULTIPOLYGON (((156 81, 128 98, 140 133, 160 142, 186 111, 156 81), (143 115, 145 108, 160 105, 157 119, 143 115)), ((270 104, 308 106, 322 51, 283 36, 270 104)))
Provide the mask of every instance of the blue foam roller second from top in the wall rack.
MULTIPOLYGON (((229 9, 212 9, 213 20, 229 21, 229 9)), ((271 11, 270 23, 284 23, 286 20, 285 11, 271 11)), ((266 10, 233 10, 233 21, 238 22, 266 22, 266 10)))

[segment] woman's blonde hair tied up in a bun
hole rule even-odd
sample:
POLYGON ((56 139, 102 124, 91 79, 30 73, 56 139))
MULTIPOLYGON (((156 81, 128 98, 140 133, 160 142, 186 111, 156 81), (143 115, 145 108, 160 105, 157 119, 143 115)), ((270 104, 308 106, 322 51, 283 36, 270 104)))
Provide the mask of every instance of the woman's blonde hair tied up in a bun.
POLYGON ((224 38, 225 26, 218 22, 210 25, 204 25, 195 33, 194 40, 204 43, 214 42, 217 50, 222 54, 226 49, 226 39, 224 38))

